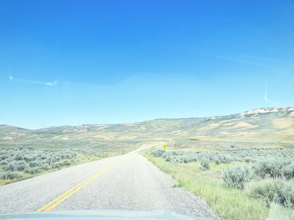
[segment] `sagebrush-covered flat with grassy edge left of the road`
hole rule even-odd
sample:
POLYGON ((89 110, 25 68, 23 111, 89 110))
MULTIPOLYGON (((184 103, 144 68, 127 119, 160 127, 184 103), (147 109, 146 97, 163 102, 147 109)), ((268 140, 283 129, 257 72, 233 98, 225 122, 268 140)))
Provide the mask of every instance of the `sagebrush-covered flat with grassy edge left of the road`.
POLYGON ((0 143, 0 185, 124 154, 152 143, 140 140, 0 143))

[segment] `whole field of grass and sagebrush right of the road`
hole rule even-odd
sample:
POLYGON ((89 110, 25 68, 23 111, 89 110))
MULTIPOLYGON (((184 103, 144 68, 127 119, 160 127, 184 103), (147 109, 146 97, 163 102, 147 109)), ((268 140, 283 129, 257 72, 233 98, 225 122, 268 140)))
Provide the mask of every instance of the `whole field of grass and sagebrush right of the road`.
POLYGON ((224 219, 294 219, 293 143, 173 141, 141 154, 224 219))

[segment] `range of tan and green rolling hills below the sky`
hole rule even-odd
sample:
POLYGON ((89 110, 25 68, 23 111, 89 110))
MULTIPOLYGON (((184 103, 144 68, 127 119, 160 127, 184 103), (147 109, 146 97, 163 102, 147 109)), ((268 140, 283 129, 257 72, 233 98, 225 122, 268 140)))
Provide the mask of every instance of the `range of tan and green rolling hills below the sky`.
POLYGON ((294 142, 294 107, 261 108, 207 118, 155 119, 114 125, 65 125, 37 130, 0 125, 0 141, 46 138, 294 142))

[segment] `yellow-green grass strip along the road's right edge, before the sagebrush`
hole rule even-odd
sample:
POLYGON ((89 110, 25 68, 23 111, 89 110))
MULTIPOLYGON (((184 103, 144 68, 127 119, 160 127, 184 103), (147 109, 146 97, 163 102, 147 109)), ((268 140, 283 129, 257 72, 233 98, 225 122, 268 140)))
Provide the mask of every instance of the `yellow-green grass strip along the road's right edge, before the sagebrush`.
POLYGON ((171 175, 184 189, 205 199, 222 218, 258 220, 269 217, 270 210, 264 207, 263 201, 253 200, 246 191, 225 187, 221 179, 225 164, 216 166, 212 163, 210 170, 203 171, 199 162, 171 164, 163 158, 148 154, 151 150, 149 148, 140 153, 163 172, 171 175))

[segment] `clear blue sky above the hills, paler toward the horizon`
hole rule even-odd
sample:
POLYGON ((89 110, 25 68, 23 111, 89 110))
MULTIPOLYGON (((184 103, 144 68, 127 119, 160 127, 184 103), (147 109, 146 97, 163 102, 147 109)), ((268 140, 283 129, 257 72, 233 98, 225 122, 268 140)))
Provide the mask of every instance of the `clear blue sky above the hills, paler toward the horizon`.
POLYGON ((0 124, 294 106, 293 1, 2 0, 0 21, 0 124))

